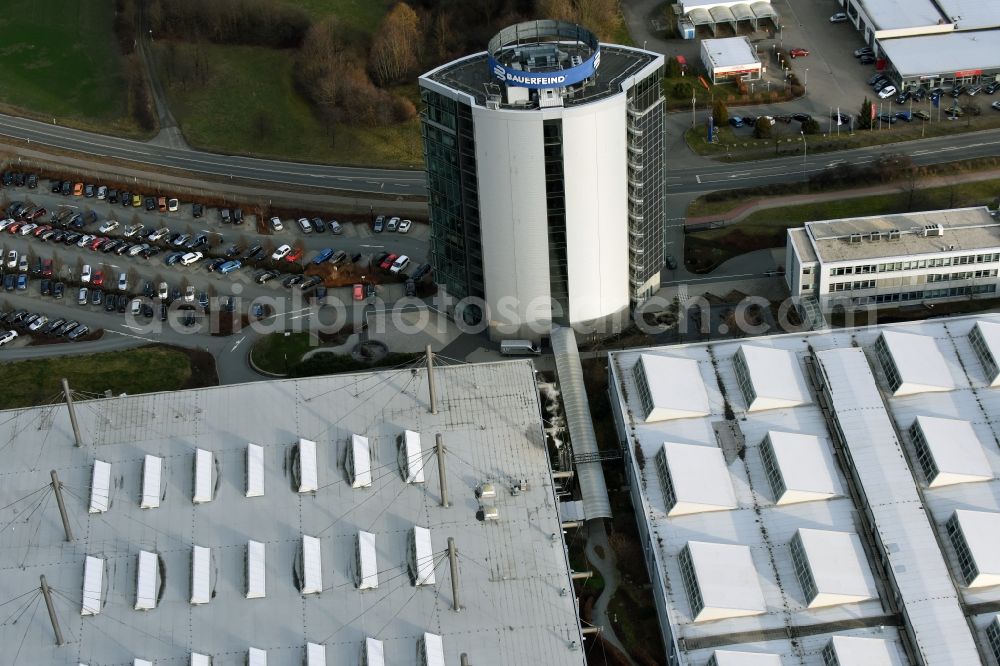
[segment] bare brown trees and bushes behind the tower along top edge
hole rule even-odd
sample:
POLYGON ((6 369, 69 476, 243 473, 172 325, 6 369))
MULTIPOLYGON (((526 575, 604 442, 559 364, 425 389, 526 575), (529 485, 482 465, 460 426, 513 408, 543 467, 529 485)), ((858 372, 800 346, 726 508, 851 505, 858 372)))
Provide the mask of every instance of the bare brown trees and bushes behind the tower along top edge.
MULTIPOLYGON (((336 16, 314 22, 283 0, 116 0, 116 7, 115 34, 122 53, 132 57, 138 31, 151 31, 155 39, 168 42, 170 62, 165 66, 175 80, 204 81, 211 63, 199 67, 197 58, 174 62, 179 50, 171 49, 170 42, 294 50, 296 87, 324 121, 372 127, 415 116, 413 102, 393 92, 395 86, 483 50, 504 26, 560 19, 584 25, 608 41, 621 21, 618 0, 411 0, 395 4, 373 34, 344 25, 336 16), (142 1, 140 14, 137 3, 142 1), (180 74, 184 76, 177 79, 180 74)), ((144 77, 141 67, 130 66, 130 86, 133 70, 140 75, 135 88, 137 106, 142 106, 144 77)))

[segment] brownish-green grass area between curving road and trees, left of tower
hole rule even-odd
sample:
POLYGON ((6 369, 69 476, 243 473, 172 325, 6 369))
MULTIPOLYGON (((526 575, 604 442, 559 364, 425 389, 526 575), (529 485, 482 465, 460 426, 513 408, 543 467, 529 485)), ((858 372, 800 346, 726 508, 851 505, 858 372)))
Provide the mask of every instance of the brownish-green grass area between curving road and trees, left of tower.
POLYGON ((416 119, 375 129, 321 123, 295 90, 292 51, 176 43, 157 44, 155 53, 170 107, 196 148, 366 166, 422 163, 416 119), (204 63, 204 83, 175 80, 168 48, 204 63))

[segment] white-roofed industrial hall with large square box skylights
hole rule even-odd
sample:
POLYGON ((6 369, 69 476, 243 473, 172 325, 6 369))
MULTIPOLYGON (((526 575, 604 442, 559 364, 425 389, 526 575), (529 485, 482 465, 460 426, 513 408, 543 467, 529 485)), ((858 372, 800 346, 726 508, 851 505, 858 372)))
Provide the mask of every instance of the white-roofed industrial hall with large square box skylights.
POLYGON ((984 314, 609 354, 669 663, 1000 663, 1000 391, 980 361, 994 327, 984 314), (754 409, 747 380, 781 367, 741 377, 755 349, 792 359, 781 381, 806 399, 754 409), (657 356, 697 364, 684 380, 709 414, 643 417, 643 391, 684 393, 659 386, 676 379, 649 372, 657 356), (694 460, 701 487, 679 480, 694 460))

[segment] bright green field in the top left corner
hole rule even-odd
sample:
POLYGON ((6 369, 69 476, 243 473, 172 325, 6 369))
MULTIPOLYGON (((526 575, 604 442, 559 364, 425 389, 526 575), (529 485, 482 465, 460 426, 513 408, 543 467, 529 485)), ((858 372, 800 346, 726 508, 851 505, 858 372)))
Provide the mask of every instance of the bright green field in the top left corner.
POLYGON ((0 110, 135 135, 113 16, 110 0, 6 0, 0 110))

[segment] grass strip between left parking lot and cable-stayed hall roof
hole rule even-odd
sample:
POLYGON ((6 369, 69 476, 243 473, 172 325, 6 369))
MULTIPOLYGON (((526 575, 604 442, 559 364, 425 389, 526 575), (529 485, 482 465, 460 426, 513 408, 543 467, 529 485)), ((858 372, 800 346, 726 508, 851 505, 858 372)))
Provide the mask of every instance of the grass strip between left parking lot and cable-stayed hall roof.
POLYGON ((179 349, 152 346, 5 363, 7 388, 0 393, 0 409, 48 403, 60 394, 62 377, 74 391, 87 393, 103 394, 111 389, 117 395, 188 388, 195 374, 191 358, 179 349))

